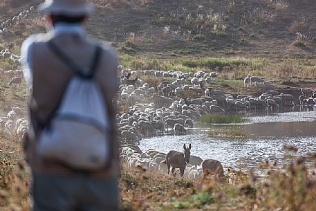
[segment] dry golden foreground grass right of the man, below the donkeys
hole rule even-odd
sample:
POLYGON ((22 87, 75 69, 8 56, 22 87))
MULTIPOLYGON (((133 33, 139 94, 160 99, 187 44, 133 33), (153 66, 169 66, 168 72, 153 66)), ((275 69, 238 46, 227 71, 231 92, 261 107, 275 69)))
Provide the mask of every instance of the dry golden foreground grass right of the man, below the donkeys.
POLYGON ((278 169, 268 162, 266 178, 226 172, 226 181, 182 180, 123 165, 122 210, 306 210, 316 208, 315 174, 303 160, 278 169), (230 183, 228 183, 230 181, 230 183))

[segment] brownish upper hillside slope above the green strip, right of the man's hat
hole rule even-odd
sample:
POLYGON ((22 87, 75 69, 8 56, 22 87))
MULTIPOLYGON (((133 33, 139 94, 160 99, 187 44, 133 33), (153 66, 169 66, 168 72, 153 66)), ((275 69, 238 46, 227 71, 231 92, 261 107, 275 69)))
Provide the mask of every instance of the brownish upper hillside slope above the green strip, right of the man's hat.
POLYGON ((140 54, 279 59, 313 57, 315 51, 313 1, 94 2, 105 7, 93 16, 104 27, 91 26, 91 33, 135 42, 140 54))

